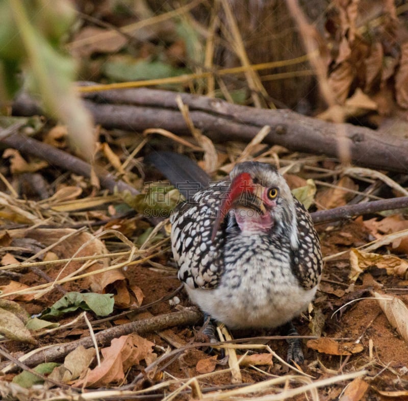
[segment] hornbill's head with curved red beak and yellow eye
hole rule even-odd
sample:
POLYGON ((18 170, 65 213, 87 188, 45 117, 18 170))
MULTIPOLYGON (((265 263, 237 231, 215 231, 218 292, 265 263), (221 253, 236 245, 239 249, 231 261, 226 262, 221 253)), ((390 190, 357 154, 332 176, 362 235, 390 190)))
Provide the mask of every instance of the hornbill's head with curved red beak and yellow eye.
MULTIPOLYGON (((228 216, 244 235, 287 234, 297 247, 296 210, 288 184, 274 166, 244 162, 230 174, 230 189, 223 199, 213 227, 213 239, 228 216)), ((230 224, 230 221, 228 222, 230 224)))

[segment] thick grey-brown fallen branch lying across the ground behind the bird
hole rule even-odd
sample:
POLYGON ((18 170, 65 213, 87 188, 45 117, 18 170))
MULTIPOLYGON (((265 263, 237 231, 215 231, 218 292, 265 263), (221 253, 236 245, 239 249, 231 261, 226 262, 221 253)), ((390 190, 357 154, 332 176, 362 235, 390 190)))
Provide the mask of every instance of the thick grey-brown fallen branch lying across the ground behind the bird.
MULTIPOLYGON (((86 85, 81 91, 88 90, 86 85)), ((97 88, 97 86, 95 86, 97 88)), ((213 141, 242 140, 249 142, 264 126, 271 131, 264 142, 282 145, 292 151, 338 157, 338 132, 342 130, 344 145, 357 165, 391 171, 408 171, 408 143, 390 132, 376 132, 352 124, 335 124, 307 117, 291 110, 267 110, 239 106, 221 99, 188 93, 135 88, 83 93, 86 107, 95 121, 106 128, 142 131, 164 128, 176 134, 190 135, 176 104, 181 96, 189 107, 194 126, 213 141)), ((13 113, 40 113, 27 95, 13 105, 13 113)))

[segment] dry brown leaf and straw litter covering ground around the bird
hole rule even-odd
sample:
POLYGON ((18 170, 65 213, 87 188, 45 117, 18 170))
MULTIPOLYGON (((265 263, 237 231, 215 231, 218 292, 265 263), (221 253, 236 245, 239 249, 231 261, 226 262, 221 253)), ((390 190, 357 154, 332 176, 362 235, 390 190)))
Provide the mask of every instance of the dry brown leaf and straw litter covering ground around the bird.
MULTIPOLYGON (((361 23, 365 15, 362 8, 356 8, 357 3, 359 2, 350 3, 344 9, 340 7, 340 3, 337 5, 341 11, 336 16, 339 23, 333 26, 338 27, 339 32, 329 33, 333 34, 330 40, 334 42, 333 48, 338 49, 338 53, 331 55, 334 68, 329 71, 329 83, 342 103, 341 107, 346 111, 346 115, 360 116, 362 110, 384 114, 378 93, 374 92, 379 90, 379 93, 385 96, 384 93, 389 89, 387 81, 395 76, 399 83, 397 85, 396 82, 393 88, 396 101, 399 106, 406 107, 406 88, 402 84, 406 75, 406 46, 402 45, 401 60, 398 61, 390 54, 384 56, 383 47, 386 45, 377 37, 371 45, 361 40, 362 31, 370 29, 370 26, 361 23), (336 43, 339 38, 340 43, 336 43), (364 79, 355 76, 355 70, 350 69, 350 63, 356 61, 359 52, 368 54, 368 58, 362 57, 360 60, 364 63, 364 79), (353 85, 358 81, 364 86, 364 93, 359 91, 359 88, 353 91, 353 85), (351 92, 353 94, 350 96, 351 92)), ((388 2, 384 8, 392 11, 393 7, 388 2)), ((328 18, 335 19, 333 15, 336 14, 330 14, 328 18)), ((390 15, 391 21, 383 22, 386 29, 392 33, 390 37, 393 39, 395 36, 390 26, 394 14, 390 12, 390 15)), ((84 29, 82 35, 74 38, 73 44, 78 41, 83 54, 114 52, 114 49, 120 49, 124 43, 123 37, 115 32, 110 36, 111 41, 101 43, 87 39, 89 47, 86 48, 84 44, 81 49, 81 40, 100 34, 96 30, 86 33, 84 29)), ((239 40, 235 39, 235 44, 239 43, 239 40)), ((245 55, 241 54, 241 57, 245 55)), ((125 65, 120 57, 115 61, 125 65)), ((148 67, 152 65, 148 63, 148 67)), ((182 106, 180 105, 181 108, 182 106)), ((230 171, 235 163, 244 158, 259 158, 289 166, 285 172, 301 176, 303 180, 302 185, 294 185, 299 189, 297 196, 312 210, 345 205, 354 200, 360 202, 361 195, 358 198, 356 192, 364 194, 368 189, 368 180, 371 184, 377 183, 381 188, 377 195, 391 196, 391 191, 402 193, 401 189, 405 190, 403 187, 406 182, 401 180, 401 183, 397 183, 397 180, 391 180, 384 172, 371 171, 368 174, 364 169, 354 169, 339 173, 339 166, 333 160, 311 160, 302 154, 291 154, 287 149, 269 151, 261 143, 268 133, 267 128, 261 130, 259 136, 249 145, 215 146, 189 123, 188 113, 189 111, 184 109, 184 118, 194 139, 186 142, 184 138, 173 136, 173 139, 178 138, 173 149, 196 157, 208 172, 215 173, 214 179, 223 177, 222 172, 230 171), (202 157, 202 154, 205 157, 202 157), (318 184, 323 181, 333 186, 331 190, 327 191, 327 187, 318 184)), ((327 110, 327 113, 330 119, 331 111, 327 110)), ((99 156, 108 160, 113 173, 141 191, 144 190, 144 182, 162 179, 157 176, 157 172, 149 171, 145 166, 140 168, 143 153, 134 155, 139 163, 139 170, 135 167, 137 163, 124 167, 123 160, 137 149, 136 146, 130 145, 135 142, 134 133, 130 135, 122 132, 117 137, 114 132, 103 134, 106 135, 107 142, 98 149, 99 156), (126 149, 126 152, 122 153, 123 149, 126 149), (141 170, 145 174, 143 179, 138 175, 141 170)), ((171 137, 172 133, 169 134, 166 135, 171 137)), ((64 135, 64 129, 60 127, 44 138, 44 141, 53 143, 54 146, 64 146, 61 142, 64 135)), ((157 145, 154 135, 150 135, 146 140, 150 146, 157 145)), ((142 139, 139 143, 142 143, 142 139)), ((75 177, 74 174, 58 178, 53 176, 52 169, 44 162, 24 160, 14 151, 6 152, 6 157, 10 162, 7 176, 10 182, 17 182, 18 174, 33 174, 35 171, 47 172, 52 178, 48 182, 48 198, 39 199, 36 194, 23 192, 27 199, 22 200, 16 192, 13 195, 12 189, 9 191, 12 195, 0 193, 0 218, 4 226, 0 233, 3 247, 0 296, 2 300, 12 299, 19 305, 21 313, 17 313, 16 309, 4 308, 13 315, 13 319, 19 321, 16 324, 22 324, 25 328, 24 322, 28 313, 41 313, 69 293, 97 292, 113 294, 115 299, 112 319, 100 319, 97 314, 89 313, 92 331, 103 331, 115 324, 115 314, 129 309, 129 314, 120 316, 121 322, 130 321, 135 315, 136 318, 141 318, 142 315, 137 314, 140 306, 155 303, 176 290, 179 282, 171 264, 167 237, 160 229, 152 230, 152 224, 143 219, 143 207, 135 208, 139 212, 136 217, 124 217, 123 211, 129 213, 129 207, 126 208, 122 202, 123 194, 106 196, 103 190, 92 185, 94 183, 82 177, 75 177), (131 220, 131 223, 125 222, 126 220, 131 220), (16 224, 28 225, 16 228, 16 224), (88 227, 89 232, 79 229, 79 225, 88 227), (45 274, 39 274, 38 269, 45 274)), ((58 174, 61 175, 61 172, 58 174)), ((10 185, 9 188, 13 186, 10 185)), ((165 192, 171 190, 173 188, 165 192)), ((142 193, 138 200, 145 199, 146 194, 150 195, 151 191, 142 193)), ((155 196, 157 193, 152 195, 153 198, 155 196)), ((139 203, 141 205, 143 202, 139 203)), ((225 368, 224 361, 217 356, 209 357, 202 351, 200 344, 196 343, 196 333, 191 326, 170 329, 172 336, 167 337, 160 336, 160 333, 146 334, 146 338, 137 335, 120 336, 112 340, 110 346, 100 350, 103 356, 100 366, 96 365, 96 351, 91 347, 87 350, 78 348, 68 354, 63 364, 59 363, 57 368, 49 364, 39 364, 38 369, 41 369, 42 374, 50 373, 51 378, 61 383, 72 384, 76 381, 74 385, 77 387, 97 388, 98 391, 88 390, 84 393, 87 399, 100 399, 105 396, 124 398, 157 391, 164 399, 187 399, 192 393, 199 399, 240 399, 239 397, 253 396, 265 396, 270 400, 289 397, 304 399, 304 395, 308 394, 312 399, 318 399, 320 396, 321 399, 329 400, 336 399, 337 395, 341 394, 345 383, 348 385, 340 397, 344 400, 362 397, 364 399, 367 394, 373 397, 373 394, 377 393, 387 396, 406 395, 403 390, 403 383, 408 380, 408 352, 405 342, 407 298, 404 291, 407 285, 406 252, 404 248, 399 248, 406 233, 393 236, 396 232, 406 230, 406 221, 406 212, 402 211, 398 216, 382 218, 377 215, 371 219, 359 218, 318 227, 326 257, 323 281, 313 308, 310 308, 308 315, 303 315, 297 321, 297 326, 301 335, 311 334, 308 327, 310 325, 317 328, 314 330, 315 334, 321 333, 322 337, 309 339, 309 347, 305 349, 307 364, 302 367, 305 373, 303 375, 300 374, 301 371, 293 374, 293 371, 277 358, 285 355, 284 340, 272 339, 267 345, 271 352, 264 352, 264 345, 257 342, 267 342, 269 339, 265 336, 252 338, 250 342, 239 341, 236 347, 230 346, 228 353, 234 349, 231 355, 235 354, 235 357, 230 356, 233 363, 231 364, 230 360, 230 367, 225 368), (373 238, 377 238, 378 242, 370 248, 367 244, 373 238), (372 253, 373 250, 378 253, 372 253), (397 252, 400 253, 399 257, 393 255, 397 252), (394 292, 395 295, 374 293, 378 301, 369 299, 373 283, 379 284, 381 291, 394 292), (358 298, 360 294, 366 294, 367 299, 357 300, 344 310, 341 316, 336 314, 331 317, 334 310, 348 303, 350 298, 358 298), (173 340, 170 340, 170 337, 173 340), (193 345, 183 350, 183 347, 188 346, 185 344, 193 345), (369 352, 370 344, 374 349, 373 353, 369 352), (167 360, 167 355, 171 353, 177 358, 167 360), (163 358, 161 365, 156 364, 157 357, 163 358), (144 379, 142 384, 138 383, 139 387, 125 387, 126 383, 132 383, 140 374, 144 379), (271 375, 278 377, 271 379, 271 375), (240 377, 246 387, 228 388, 233 377, 235 380, 240 377), (143 386, 147 388, 142 388, 143 386), (117 390, 100 391, 101 387, 116 387, 117 390), (216 395, 212 392, 214 390, 217 390, 216 395)), ((188 306, 186 295, 179 293, 178 296, 181 300, 178 308, 188 306)), ((174 304, 159 302, 150 306, 149 311, 153 315, 166 315, 175 309, 174 304)), ((36 347, 40 346, 37 341, 41 344, 58 344, 89 335, 89 329, 78 319, 78 311, 63 312, 59 317, 61 327, 53 329, 52 335, 47 333, 48 328, 44 323, 39 333, 25 328, 30 333, 29 338, 36 338, 32 345, 23 345, 22 338, 13 338, 3 339, 3 346, 14 356, 21 356, 23 353, 27 356, 29 350, 35 352, 36 347)), ((18 330, 12 331, 13 334, 18 333, 18 330)), ((7 337, 7 333, 2 334, 7 337)), ((242 333, 233 334, 238 339, 243 336, 242 333)), ((256 334, 264 333, 250 333, 251 337, 256 334)), ((4 370, 9 363, 2 359, 0 364, 4 370)), ((24 375, 25 373, 27 372, 24 372, 24 375)), ((43 387, 39 392, 38 388, 32 387, 34 383, 41 383, 37 377, 34 380, 31 377, 30 380, 33 381, 25 385, 30 388, 28 394, 15 385, 14 379, 18 377, 15 373, 7 371, 6 374, 5 380, 0 381, 0 394, 4 396, 13 393, 25 394, 32 399, 44 399, 41 393, 44 389, 47 389, 49 397, 56 395, 52 393, 54 389, 43 387)), ((45 386, 49 384, 45 382, 45 386)), ((70 396, 71 399, 80 399, 82 395, 74 393, 70 396)))

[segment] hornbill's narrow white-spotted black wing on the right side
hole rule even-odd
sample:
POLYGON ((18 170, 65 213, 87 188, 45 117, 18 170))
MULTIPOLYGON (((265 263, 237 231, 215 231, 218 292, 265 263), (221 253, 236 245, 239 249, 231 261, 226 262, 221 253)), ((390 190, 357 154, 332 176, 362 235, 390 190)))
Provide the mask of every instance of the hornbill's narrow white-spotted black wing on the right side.
POLYGON ((299 247, 294 255, 293 272, 303 288, 311 289, 321 279, 323 261, 320 241, 309 212, 296 198, 294 201, 299 247))

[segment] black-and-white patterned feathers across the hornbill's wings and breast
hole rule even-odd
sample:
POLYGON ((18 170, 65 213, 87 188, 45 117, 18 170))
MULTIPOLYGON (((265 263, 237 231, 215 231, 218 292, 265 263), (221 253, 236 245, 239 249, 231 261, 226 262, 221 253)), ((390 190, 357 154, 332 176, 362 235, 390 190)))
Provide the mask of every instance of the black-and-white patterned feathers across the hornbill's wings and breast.
MULTIPOLYGON (((280 174, 278 178, 284 180, 280 174)), ((308 211, 294 197, 282 202, 294 203, 297 248, 291 244, 289 221, 282 221, 271 234, 250 238, 240 235, 231 215, 226 216, 215 240, 211 240, 213 225, 230 185, 227 181, 213 184, 197 192, 173 213, 171 245, 180 280, 190 288, 215 288, 223 272, 234 269, 238 259, 245 258, 250 268, 254 253, 261 252, 269 258, 272 267, 290 261, 291 272, 298 283, 305 289, 315 287, 322 269, 319 238, 308 211)), ((239 278, 234 280, 239 281, 239 278)))

